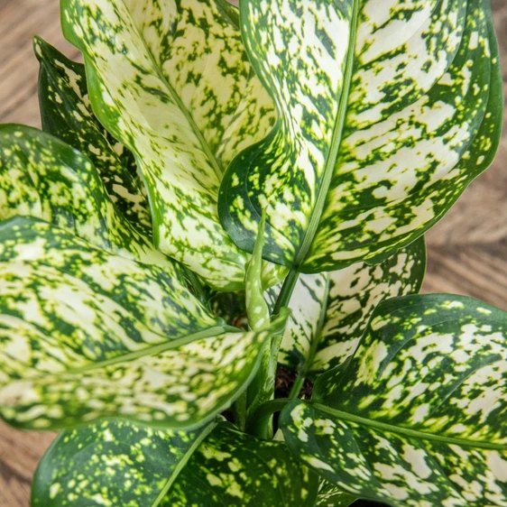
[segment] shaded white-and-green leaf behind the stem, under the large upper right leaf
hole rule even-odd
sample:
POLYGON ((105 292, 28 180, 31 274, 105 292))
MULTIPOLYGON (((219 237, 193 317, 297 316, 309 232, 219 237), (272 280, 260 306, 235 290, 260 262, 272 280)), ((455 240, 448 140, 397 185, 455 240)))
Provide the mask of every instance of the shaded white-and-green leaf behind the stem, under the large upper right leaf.
MULTIPOLYGON (((376 265, 302 274, 281 343, 279 361, 296 370, 325 372, 355 353, 373 309, 382 301, 419 292, 426 270, 421 238, 376 265)), ((277 290, 268 291, 274 300, 277 290)))

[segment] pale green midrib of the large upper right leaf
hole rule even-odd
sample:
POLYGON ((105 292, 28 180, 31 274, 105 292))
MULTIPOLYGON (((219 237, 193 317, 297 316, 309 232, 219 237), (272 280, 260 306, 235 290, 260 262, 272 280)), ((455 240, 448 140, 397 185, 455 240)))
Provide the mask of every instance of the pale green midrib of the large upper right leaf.
POLYGON ((346 69, 344 72, 344 86, 342 89, 342 95, 338 104, 336 123, 333 129, 333 135, 331 138, 331 144, 329 152, 327 153, 326 163, 324 165, 324 171, 320 186, 318 188, 317 198, 315 206, 313 207, 312 213, 309 217, 309 226, 306 229, 305 235, 298 253, 294 258, 293 269, 300 271, 300 266, 305 262, 306 257, 309 253, 311 245, 317 235, 318 225, 320 218, 324 212, 324 206, 326 204, 327 194, 331 186, 331 180, 334 174, 336 160, 338 152, 342 143, 343 133, 345 128, 347 104, 349 99, 350 88, 352 86, 352 77, 354 73, 354 62, 355 62, 355 42, 357 36, 357 25, 359 19, 359 1, 355 0, 352 14, 352 23, 350 27, 350 35, 348 42, 348 54, 346 60, 346 69))

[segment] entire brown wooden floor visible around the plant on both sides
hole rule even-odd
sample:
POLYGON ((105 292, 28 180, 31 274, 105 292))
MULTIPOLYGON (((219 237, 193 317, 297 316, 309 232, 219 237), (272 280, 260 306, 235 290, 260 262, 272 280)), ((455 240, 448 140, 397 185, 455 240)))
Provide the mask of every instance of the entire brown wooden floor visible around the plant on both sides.
MULTIPOLYGON (((507 3, 492 3, 507 95, 507 3)), ((78 54, 60 34, 58 0, 0 0, 1 123, 40 124, 34 33, 70 58, 78 54)), ((507 129, 493 167, 427 237, 426 291, 466 294, 507 310, 507 129)), ((0 507, 29 505, 33 470, 52 438, 0 423, 0 507)))

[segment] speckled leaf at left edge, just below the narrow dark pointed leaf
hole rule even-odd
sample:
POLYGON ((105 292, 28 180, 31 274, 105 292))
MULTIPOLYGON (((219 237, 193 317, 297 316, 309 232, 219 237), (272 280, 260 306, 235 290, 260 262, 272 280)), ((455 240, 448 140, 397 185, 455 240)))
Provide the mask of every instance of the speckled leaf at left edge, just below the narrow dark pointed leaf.
POLYGON ((46 220, 110 252, 181 271, 118 211, 88 157, 31 127, 0 125, 0 219, 19 215, 46 220))

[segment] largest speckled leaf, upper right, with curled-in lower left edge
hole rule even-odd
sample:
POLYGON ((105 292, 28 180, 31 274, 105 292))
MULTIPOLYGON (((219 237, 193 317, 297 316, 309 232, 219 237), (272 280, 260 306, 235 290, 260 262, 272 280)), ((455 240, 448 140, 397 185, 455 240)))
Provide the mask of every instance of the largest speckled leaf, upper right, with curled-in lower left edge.
POLYGON ((302 272, 385 258, 493 160, 502 78, 489 0, 251 0, 245 46, 279 120, 222 182, 252 252, 302 272))

